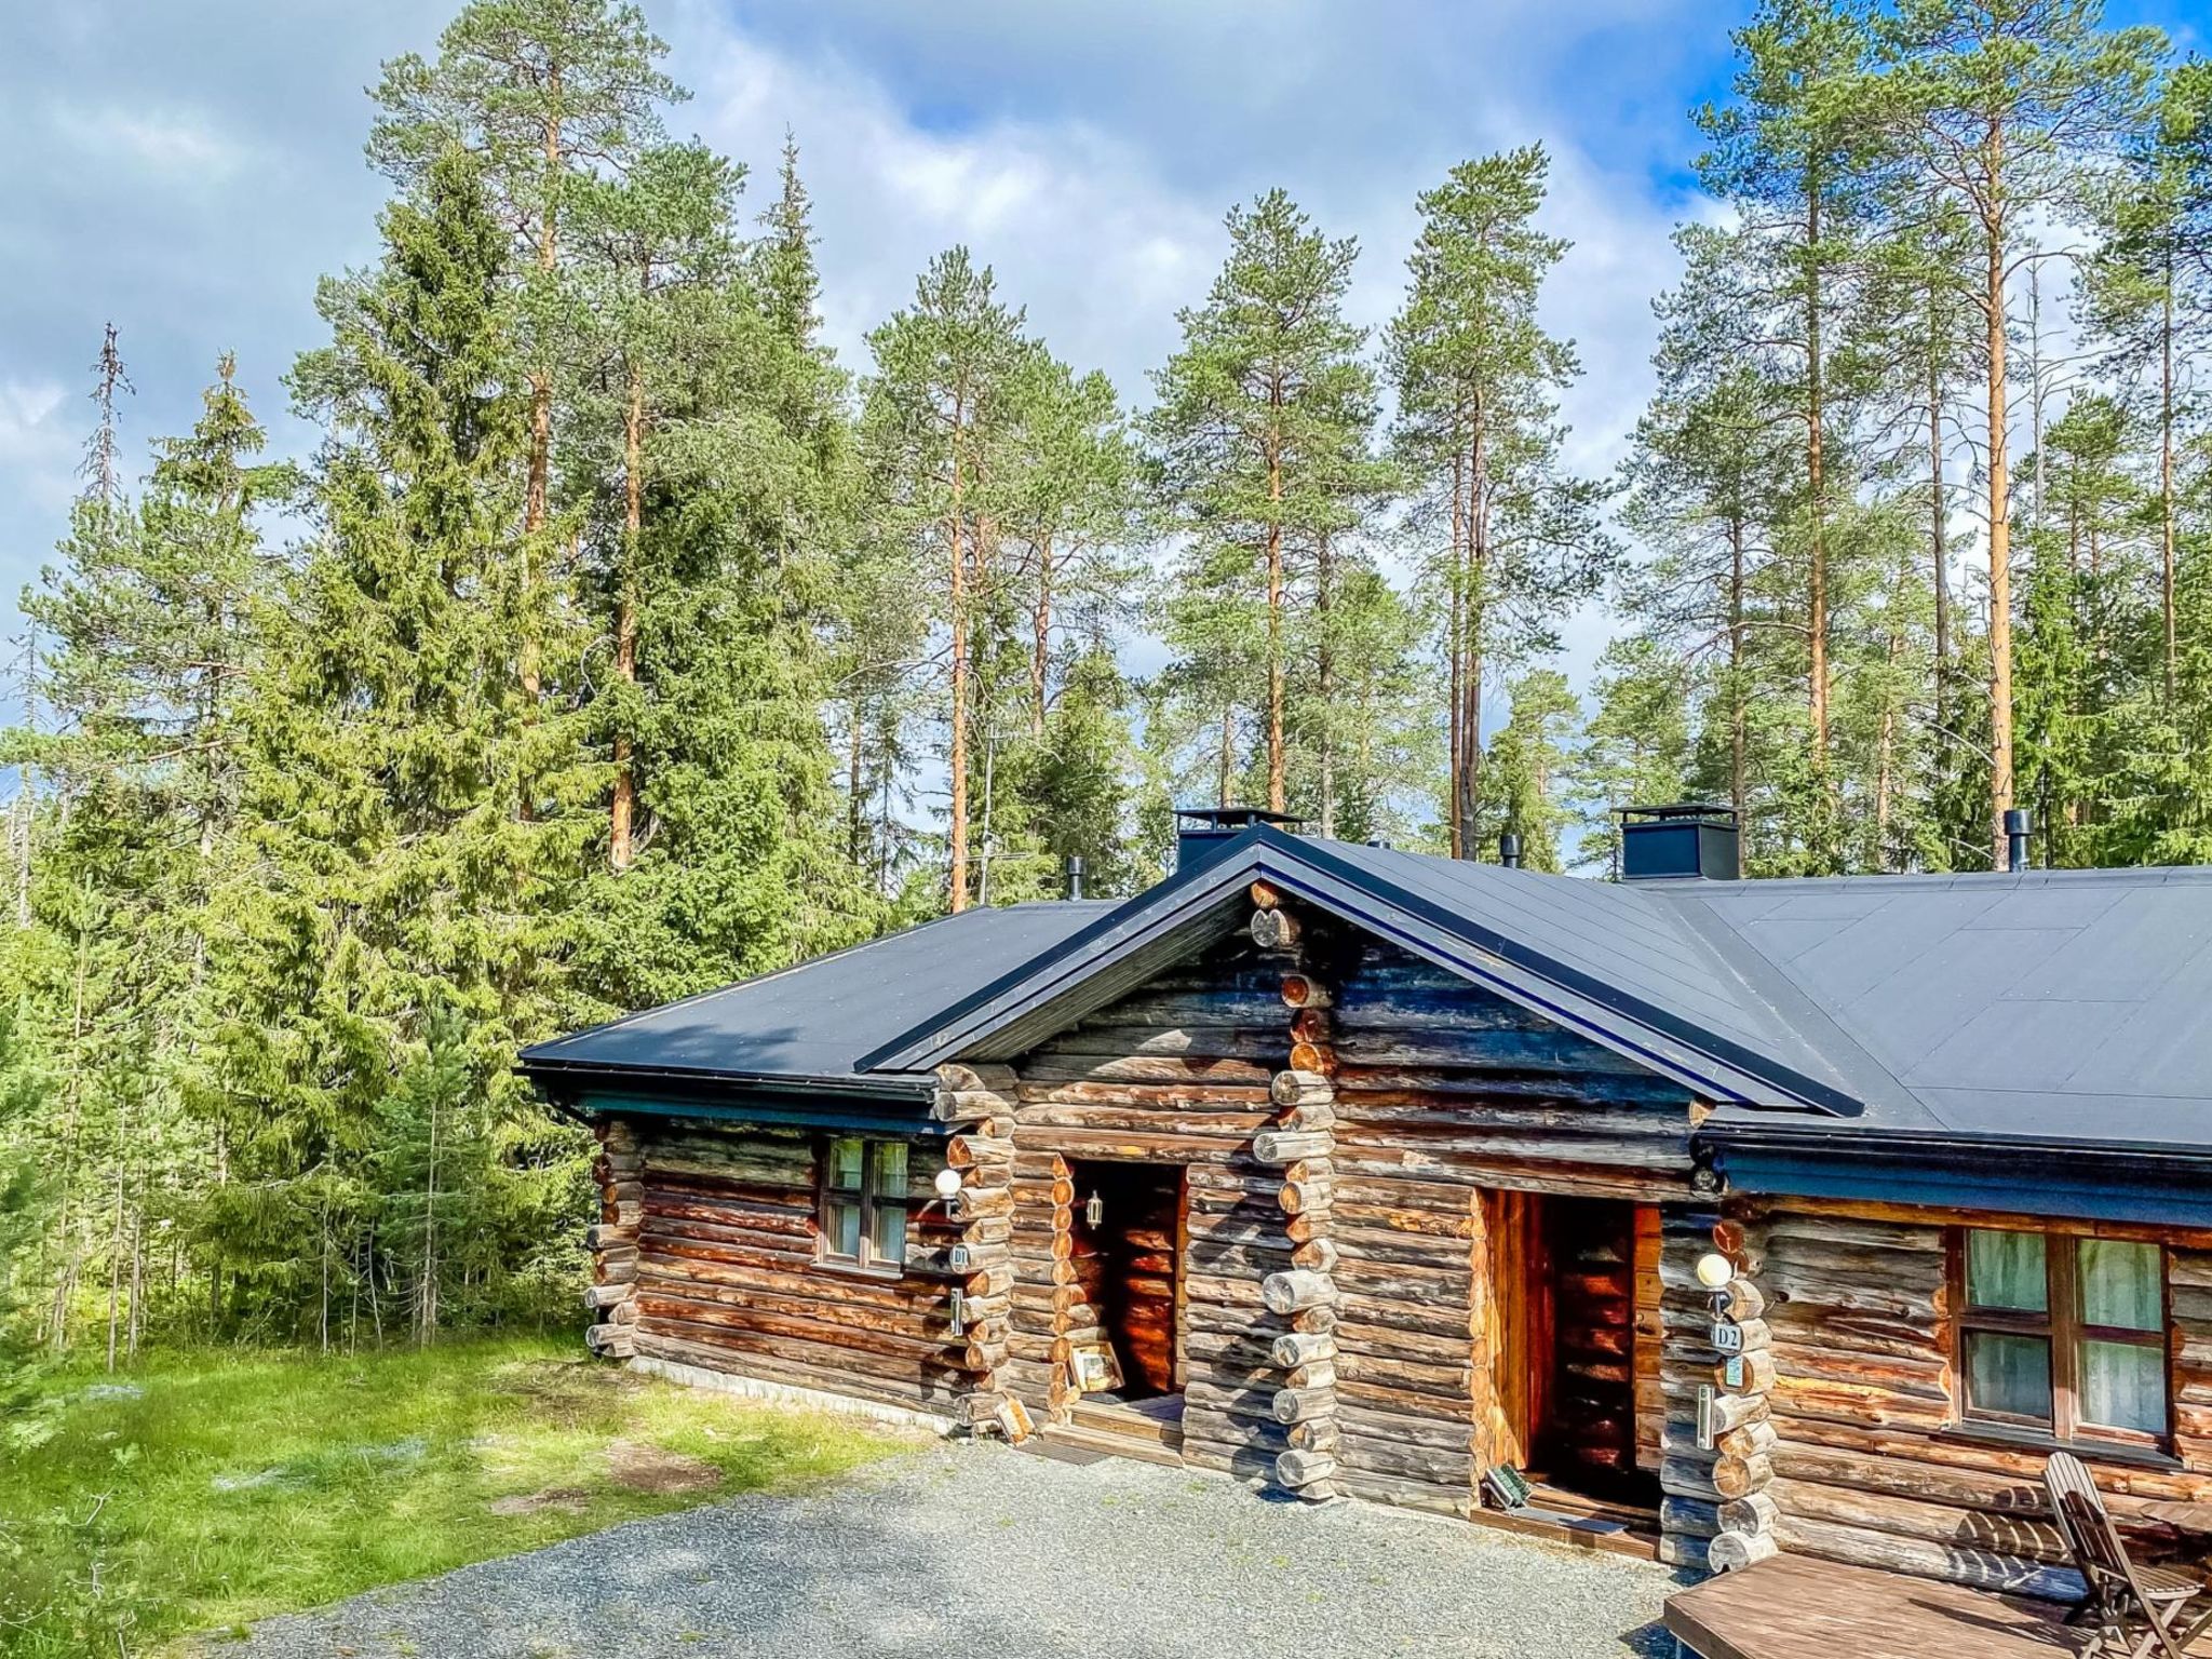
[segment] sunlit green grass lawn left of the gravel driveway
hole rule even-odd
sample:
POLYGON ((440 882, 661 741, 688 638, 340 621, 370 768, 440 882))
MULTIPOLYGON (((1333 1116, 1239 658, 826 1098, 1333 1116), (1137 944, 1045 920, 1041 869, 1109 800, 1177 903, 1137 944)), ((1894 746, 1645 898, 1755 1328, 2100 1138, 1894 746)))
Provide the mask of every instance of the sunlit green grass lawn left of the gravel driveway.
POLYGON ((7 1659, 150 1655, 907 1444, 553 1340, 192 1354, 51 1389, 55 1438, 0 1449, 7 1659))

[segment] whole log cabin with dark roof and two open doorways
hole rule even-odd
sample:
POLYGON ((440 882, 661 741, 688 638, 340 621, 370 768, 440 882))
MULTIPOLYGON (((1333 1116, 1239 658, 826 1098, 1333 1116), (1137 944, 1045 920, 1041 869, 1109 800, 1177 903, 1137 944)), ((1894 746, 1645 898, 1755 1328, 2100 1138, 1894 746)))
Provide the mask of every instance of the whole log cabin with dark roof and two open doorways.
POLYGON ((2064 1597, 2051 1449, 2212 1500, 2212 872, 1186 818, 1126 902, 531 1048, 591 1347, 1712 1571, 2064 1597))

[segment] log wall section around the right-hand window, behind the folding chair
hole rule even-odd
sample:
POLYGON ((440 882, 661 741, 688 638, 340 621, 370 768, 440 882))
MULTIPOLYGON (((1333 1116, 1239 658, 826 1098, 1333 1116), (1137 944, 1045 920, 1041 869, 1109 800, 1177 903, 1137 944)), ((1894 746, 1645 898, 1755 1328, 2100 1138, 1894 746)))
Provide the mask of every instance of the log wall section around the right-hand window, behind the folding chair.
MULTIPOLYGON (((1772 1535, 1785 1551, 1856 1566, 2073 1597, 2079 1579, 2044 1504, 2044 1455, 1951 1431, 1953 1221, 1845 1206, 1756 1212, 1774 1354, 1772 1535)), ((2146 1500, 2212 1502, 2212 1237, 2168 1245, 2181 1469, 2086 1455, 2115 1517, 2150 1544, 2159 1528, 2139 1515, 2146 1500)))

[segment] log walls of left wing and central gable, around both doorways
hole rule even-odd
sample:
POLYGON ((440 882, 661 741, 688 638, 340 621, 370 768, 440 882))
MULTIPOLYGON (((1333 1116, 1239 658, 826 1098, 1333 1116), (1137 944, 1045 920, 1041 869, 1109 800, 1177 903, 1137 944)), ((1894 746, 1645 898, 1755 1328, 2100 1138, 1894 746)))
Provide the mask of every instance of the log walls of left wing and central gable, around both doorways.
MULTIPOLYGON (((1531 1453, 1517 1303, 1542 1194, 1606 1199, 1641 1206, 1606 1245, 1632 1261, 1604 1318, 1575 1314, 1588 1340, 1573 1363, 1610 1367, 1632 1405, 1632 1422, 1590 1418, 1606 1455, 1655 1464, 1672 1444, 1661 1411, 1694 1391, 1683 1365, 1710 1367, 1661 1290, 1661 1256, 1686 1248, 1677 1212, 1683 1239, 1710 1230, 1686 1210, 1688 1095, 1265 887, 1252 898, 1250 929, 1029 1055, 940 1068, 949 1139, 911 1152, 902 1279, 814 1263, 814 1137, 613 1130, 622 1197, 602 1267, 633 1279, 608 1352, 920 1400, 1013 1433, 1066 1416, 1071 1347, 1110 1325, 1084 1276, 1077 1168, 1179 1166, 1183 1458, 1307 1498, 1467 1515, 1482 1469, 1531 1453), (931 1212, 947 1161, 964 1190, 931 1212)), ((1697 1524, 1714 1511, 1701 1493, 1697 1524)))

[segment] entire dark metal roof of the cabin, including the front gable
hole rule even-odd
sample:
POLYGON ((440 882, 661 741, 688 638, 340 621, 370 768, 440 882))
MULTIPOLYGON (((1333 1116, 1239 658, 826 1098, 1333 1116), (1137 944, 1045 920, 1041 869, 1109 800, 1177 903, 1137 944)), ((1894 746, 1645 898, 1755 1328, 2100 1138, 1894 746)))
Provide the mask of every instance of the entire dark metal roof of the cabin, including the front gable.
POLYGON ((1745 1157, 2212 1150, 2208 869, 1617 885, 1256 825, 1121 905, 967 911, 522 1066, 911 1099, 1239 927, 1256 878, 1694 1088, 1745 1157))

